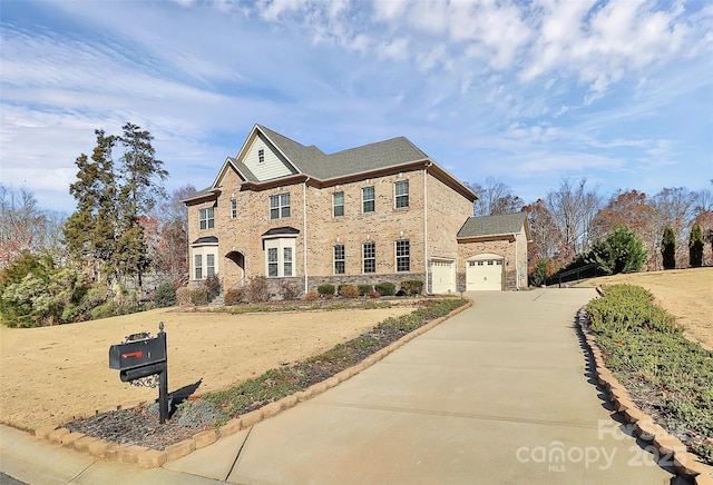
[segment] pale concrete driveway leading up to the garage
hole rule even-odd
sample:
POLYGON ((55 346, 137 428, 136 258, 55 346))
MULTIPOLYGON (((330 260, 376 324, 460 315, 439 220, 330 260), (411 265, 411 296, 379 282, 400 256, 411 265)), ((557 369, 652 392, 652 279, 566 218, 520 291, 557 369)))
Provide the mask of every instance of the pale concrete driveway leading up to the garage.
POLYGON ((2 428, 0 469, 32 484, 672 482, 588 382, 574 316, 594 290, 471 296, 472 308, 352 379, 164 468, 2 428))

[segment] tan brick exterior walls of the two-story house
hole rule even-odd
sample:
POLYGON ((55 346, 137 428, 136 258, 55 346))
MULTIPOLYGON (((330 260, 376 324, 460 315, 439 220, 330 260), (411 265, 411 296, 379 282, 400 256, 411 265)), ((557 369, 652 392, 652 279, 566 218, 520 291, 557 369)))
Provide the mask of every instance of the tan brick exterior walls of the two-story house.
MULTIPOLYGON (((251 150, 254 151, 253 146, 270 149, 271 139, 277 141, 273 147, 276 155, 265 156, 267 162, 287 164, 284 154, 295 147, 296 156, 305 150, 310 156, 320 157, 321 152, 314 147, 302 147, 281 137, 256 127, 238 158, 258 164, 251 150), (280 143, 283 143, 282 151, 277 151, 280 143)), ((456 234, 472 215, 475 196, 427 158, 332 179, 316 179, 292 170, 289 176, 266 181, 246 180, 250 178, 245 175, 250 171, 247 166, 241 166, 237 159, 228 160, 209 189, 186 200, 193 284, 199 283, 195 258, 203 257, 202 264, 206 265, 208 254, 214 255, 214 270, 223 280, 224 289, 242 286, 255 276, 270 276, 272 270, 276 273, 268 277, 268 283, 274 294, 280 294, 284 281, 294 283, 305 293, 328 283, 339 286, 391 281, 398 285, 404 279, 427 281, 424 290, 430 293, 430 261, 433 258, 456 261, 460 278, 463 261, 477 251, 487 249, 499 251, 506 258, 515 257, 508 241, 459 244, 456 234), (397 208, 395 187, 397 184, 403 187, 404 182, 408 182, 408 207, 397 208), (371 188, 373 211, 364 211, 363 190, 371 188), (289 217, 271 218, 271 196, 285 194, 290 197, 289 217), (343 214, 340 215, 334 214, 338 194, 343 198, 343 214), (201 209, 211 207, 214 226, 202 229, 201 209), (397 270, 397 241, 400 241, 401 250, 408 241, 406 270, 397 270), (374 245, 374 273, 364 273, 364 244, 374 245), (343 274, 335 271, 335 246, 343 246, 343 274), (273 247, 276 249, 268 255, 273 247), (267 258, 272 255, 279 260, 268 268, 267 258)), ((204 266, 204 278, 206 270, 204 266)), ((514 270, 508 275, 506 271, 506 279, 511 283, 507 283, 507 287, 516 286, 514 270)))

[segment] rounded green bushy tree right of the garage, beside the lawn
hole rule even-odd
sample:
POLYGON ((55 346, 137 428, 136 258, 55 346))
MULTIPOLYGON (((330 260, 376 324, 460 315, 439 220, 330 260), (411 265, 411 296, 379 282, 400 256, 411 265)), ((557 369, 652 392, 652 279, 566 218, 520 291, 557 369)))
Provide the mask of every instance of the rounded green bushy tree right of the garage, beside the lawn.
POLYGON ((641 271, 648 260, 646 245, 627 226, 615 225, 602 240, 593 244, 587 259, 606 274, 641 271))

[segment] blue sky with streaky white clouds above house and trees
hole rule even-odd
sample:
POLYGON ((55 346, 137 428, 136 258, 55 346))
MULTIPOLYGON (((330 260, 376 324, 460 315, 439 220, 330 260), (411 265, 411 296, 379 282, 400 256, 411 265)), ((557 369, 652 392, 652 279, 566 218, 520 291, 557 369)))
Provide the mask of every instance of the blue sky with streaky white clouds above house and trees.
POLYGON ((713 2, 8 1, 0 181, 71 212, 95 129, 148 129, 170 190, 255 123, 325 152, 406 136, 526 202, 711 188, 713 2))

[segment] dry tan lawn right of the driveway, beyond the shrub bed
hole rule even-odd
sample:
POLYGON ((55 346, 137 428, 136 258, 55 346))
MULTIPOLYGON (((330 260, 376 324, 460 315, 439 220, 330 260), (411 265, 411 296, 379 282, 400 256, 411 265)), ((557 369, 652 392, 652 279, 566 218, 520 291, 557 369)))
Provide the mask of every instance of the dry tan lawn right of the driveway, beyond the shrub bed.
POLYGON ((590 279, 585 285, 627 283, 648 289, 676 317, 685 334, 713 349, 713 268, 634 273, 590 279))

